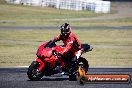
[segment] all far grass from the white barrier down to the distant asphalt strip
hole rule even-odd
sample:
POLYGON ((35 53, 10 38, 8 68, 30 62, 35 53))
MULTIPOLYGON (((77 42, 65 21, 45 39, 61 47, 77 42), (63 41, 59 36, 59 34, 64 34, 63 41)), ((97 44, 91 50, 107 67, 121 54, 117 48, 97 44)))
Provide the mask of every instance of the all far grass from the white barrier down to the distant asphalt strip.
POLYGON ((0 26, 57 26, 69 22, 73 26, 131 26, 132 18, 114 20, 82 20, 74 18, 92 18, 102 15, 111 15, 117 11, 111 10, 109 14, 94 13, 93 11, 71 11, 49 7, 33 7, 6 4, 0 2, 0 26), (57 19, 57 20, 56 20, 57 19))

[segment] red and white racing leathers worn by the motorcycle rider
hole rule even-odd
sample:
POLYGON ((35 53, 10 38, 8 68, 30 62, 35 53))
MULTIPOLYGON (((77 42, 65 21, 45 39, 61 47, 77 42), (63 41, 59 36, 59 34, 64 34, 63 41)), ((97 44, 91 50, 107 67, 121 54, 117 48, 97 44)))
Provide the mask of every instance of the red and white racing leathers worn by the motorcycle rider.
POLYGON ((53 42, 62 40, 65 46, 65 49, 62 51, 62 54, 72 51, 77 59, 81 56, 81 43, 77 37, 70 33, 68 37, 63 37, 61 34, 52 39, 53 42))

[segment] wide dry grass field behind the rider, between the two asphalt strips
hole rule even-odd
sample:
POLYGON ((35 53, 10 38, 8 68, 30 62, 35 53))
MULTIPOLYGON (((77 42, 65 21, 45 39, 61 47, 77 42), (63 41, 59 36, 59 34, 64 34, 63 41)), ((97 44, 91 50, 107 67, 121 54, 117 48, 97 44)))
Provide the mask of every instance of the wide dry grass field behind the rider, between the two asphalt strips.
MULTIPOLYGON (((73 32, 82 43, 94 47, 92 52, 83 55, 90 67, 132 67, 132 30, 73 32)), ((0 30, 0 67, 30 65, 42 41, 58 34, 59 30, 0 30)))

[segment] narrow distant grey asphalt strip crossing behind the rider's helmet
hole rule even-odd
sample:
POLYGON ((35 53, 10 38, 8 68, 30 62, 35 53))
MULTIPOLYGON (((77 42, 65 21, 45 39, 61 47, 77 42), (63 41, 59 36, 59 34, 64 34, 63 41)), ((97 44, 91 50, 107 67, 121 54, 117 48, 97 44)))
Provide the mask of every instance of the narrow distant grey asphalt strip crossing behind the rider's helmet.
MULTIPOLYGON (((34 29, 59 29, 60 26, 0 26, 0 30, 34 30, 34 29)), ((72 29, 80 30, 80 29, 110 29, 110 30, 132 30, 132 26, 72 26, 72 29)))

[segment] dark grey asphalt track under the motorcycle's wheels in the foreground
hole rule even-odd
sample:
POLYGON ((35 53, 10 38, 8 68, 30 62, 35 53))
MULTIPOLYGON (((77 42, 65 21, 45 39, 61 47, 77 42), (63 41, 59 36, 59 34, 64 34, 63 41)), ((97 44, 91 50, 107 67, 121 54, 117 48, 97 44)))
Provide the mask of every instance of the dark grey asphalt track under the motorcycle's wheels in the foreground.
MULTIPOLYGON (((30 81, 26 72, 27 68, 0 68, 0 88, 132 88, 132 82, 86 83, 81 86, 60 74, 30 81)), ((132 78, 132 68, 90 68, 89 74, 129 74, 132 78)))

